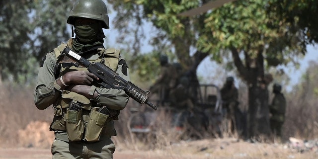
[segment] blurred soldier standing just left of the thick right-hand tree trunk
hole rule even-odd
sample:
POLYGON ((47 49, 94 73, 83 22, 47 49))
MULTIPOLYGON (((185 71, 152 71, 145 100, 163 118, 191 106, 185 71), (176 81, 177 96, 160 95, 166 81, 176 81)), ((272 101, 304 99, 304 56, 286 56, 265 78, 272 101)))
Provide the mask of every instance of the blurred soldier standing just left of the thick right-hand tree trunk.
POLYGON ((222 97, 223 107, 226 109, 226 112, 227 112, 226 118, 228 120, 229 132, 234 133, 236 129, 236 125, 237 125, 235 114, 236 114, 236 111, 239 109, 238 108, 239 92, 234 85, 233 77, 227 77, 226 82, 221 88, 221 97, 222 97))

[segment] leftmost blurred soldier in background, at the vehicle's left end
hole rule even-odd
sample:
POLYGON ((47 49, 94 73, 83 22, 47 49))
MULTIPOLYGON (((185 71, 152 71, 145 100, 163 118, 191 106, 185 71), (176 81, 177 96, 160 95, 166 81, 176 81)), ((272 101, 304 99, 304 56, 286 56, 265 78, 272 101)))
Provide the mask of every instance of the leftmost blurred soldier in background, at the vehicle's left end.
POLYGON ((160 56, 160 75, 156 82, 150 87, 150 92, 159 95, 160 104, 169 102, 169 91, 175 86, 177 71, 175 67, 168 63, 166 55, 160 56))

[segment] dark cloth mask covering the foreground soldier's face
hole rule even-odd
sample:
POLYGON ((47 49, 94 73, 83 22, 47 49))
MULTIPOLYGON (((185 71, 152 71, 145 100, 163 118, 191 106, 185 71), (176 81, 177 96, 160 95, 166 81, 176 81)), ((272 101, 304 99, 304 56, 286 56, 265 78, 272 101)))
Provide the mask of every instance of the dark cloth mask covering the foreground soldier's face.
POLYGON ((93 44, 100 41, 103 37, 102 26, 100 23, 90 25, 74 25, 76 40, 81 44, 93 44))

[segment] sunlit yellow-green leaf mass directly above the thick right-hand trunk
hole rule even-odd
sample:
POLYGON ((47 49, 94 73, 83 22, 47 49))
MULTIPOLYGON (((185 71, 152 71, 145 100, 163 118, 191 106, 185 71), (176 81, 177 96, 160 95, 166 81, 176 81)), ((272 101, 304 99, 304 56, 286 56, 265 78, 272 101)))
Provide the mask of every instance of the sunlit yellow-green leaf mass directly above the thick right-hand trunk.
POLYGON ((220 50, 231 48, 254 59, 262 49, 269 65, 287 63, 291 51, 301 48, 297 47, 298 41, 286 41, 288 30, 284 26, 271 27, 278 21, 266 14, 267 3, 267 0, 241 0, 215 9, 205 20, 205 28, 209 29, 199 37, 198 48, 210 52, 215 59, 223 56, 220 50))

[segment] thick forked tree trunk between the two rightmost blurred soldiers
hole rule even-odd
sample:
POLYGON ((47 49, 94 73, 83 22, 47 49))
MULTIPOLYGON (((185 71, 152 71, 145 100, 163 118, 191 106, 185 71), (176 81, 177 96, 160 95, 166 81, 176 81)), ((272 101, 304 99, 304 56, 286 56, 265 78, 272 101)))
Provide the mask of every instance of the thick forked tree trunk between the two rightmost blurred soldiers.
POLYGON ((264 57, 260 48, 256 58, 247 52, 244 60, 239 57, 238 49, 232 48, 234 63, 239 75, 248 85, 247 137, 259 137, 270 134, 268 90, 264 81, 264 57), (245 65, 243 65, 243 61, 245 65))

